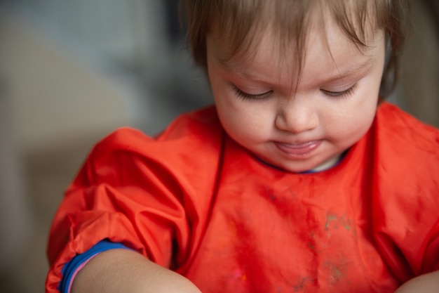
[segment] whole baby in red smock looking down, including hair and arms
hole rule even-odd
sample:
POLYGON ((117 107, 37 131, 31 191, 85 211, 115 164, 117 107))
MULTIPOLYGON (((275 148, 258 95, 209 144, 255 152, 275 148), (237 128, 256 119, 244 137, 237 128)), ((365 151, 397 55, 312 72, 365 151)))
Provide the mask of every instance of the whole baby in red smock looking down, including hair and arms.
POLYGON ((93 148, 46 292, 439 292, 439 131, 384 102, 407 1, 182 6, 215 106, 93 148))

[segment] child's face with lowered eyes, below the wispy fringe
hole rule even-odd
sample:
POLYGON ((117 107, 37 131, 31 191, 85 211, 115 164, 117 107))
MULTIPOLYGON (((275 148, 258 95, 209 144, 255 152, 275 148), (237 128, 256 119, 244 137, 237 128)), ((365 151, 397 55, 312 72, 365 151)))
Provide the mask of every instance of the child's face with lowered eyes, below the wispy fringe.
POLYGON ((227 63, 219 60, 224 54, 219 39, 208 36, 208 74, 219 119, 231 138, 269 164, 292 172, 323 167, 372 124, 384 34, 370 37, 370 47, 361 52, 331 22, 325 30, 311 28, 298 83, 294 51, 279 51, 275 35, 269 30, 262 35, 254 58, 227 63))

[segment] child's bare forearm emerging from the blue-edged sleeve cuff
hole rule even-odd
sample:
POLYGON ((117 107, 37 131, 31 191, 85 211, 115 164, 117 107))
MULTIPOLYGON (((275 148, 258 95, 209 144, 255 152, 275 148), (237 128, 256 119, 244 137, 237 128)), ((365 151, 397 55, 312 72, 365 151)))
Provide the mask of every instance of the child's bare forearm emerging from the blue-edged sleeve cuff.
POLYGON ((72 293, 200 293, 182 275, 174 273, 128 249, 98 254, 74 279, 72 293))

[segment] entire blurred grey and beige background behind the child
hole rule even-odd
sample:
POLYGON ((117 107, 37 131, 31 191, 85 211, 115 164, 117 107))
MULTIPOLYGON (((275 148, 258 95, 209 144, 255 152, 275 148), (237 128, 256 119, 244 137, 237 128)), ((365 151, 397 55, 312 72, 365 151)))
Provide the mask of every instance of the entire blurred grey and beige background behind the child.
MULTIPOLYGON (((439 2, 412 1, 392 103, 439 126, 439 2)), ((178 0, 0 0, 0 291, 44 291, 46 240, 88 151, 212 102, 178 0)))

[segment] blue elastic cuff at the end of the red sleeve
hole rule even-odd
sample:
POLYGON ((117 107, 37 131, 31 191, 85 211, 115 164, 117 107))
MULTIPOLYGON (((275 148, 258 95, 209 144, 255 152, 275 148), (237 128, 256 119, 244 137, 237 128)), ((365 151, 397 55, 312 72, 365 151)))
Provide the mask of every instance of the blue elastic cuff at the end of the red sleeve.
POLYGON ((109 240, 102 240, 97 242, 93 247, 88 249, 83 254, 77 254, 72 260, 64 265, 62 268, 62 279, 58 289, 61 293, 69 292, 69 285, 73 281, 74 272, 79 266, 81 266, 85 261, 88 261, 91 257, 99 254, 100 252, 105 252, 110 249, 129 249, 121 243, 110 242, 109 240))

